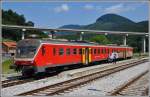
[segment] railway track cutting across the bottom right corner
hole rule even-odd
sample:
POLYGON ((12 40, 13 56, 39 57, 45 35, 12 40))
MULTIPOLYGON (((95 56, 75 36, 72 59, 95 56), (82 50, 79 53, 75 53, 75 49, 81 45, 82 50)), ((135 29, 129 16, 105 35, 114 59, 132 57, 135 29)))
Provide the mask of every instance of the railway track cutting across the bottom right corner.
POLYGON ((148 96, 149 73, 145 71, 110 93, 111 96, 148 96))

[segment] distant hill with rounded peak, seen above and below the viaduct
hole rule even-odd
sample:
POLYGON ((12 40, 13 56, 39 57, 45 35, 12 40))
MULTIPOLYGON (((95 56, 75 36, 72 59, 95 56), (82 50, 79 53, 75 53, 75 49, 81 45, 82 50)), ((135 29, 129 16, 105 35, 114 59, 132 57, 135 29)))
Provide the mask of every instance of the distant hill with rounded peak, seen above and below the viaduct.
MULTIPOLYGON (((141 21, 141 22, 134 22, 126 17, 117 15, 117 14, 105 14, 99 17, 94 23, 89 25, 76 25, 78 29, 91 29, 91 30, 107 30, 107 31, 131 31, 131 32, 148 32, 148 21, 141 21), (80 27, 79 27, 80 26, 80 27)), ((65 25, 60 28, 72 28, 72 25, 65 25)), ((76 29, 76 27, 75 27, 76 29)), ((59 34, 66 34, 66 33, 59 33, 59 34)), ((72 33, 73 34, 73 33, 72 33)), ((64 36, 65 38, 71 38, 71 36, 64 36)), ((72 35, 72 37, 74 37, 72 35)), ((95 35, 85 35, 85 40, 95 39, 95 35)), ((108 40, 108 43, 115 43, 115 44, 123 44, 123 37, 119 35, 108 35, 108 36, 101 36, 105 37, 108 40)), ((142 37, 141 36, 129 36, 127 43, 129 46, 135 48, 135 51, 141 51, 142 45, 142 37)), ((148 40, 147 40, 148 41, 148 40)), ((100 43, 101 44, 101 43, 100 43)), ((107 44, 107 43, 106 43, 107 44)), ((148 44, 148 43, 147 43, 148 44)), ((147 47, 148 49, 148 47, 147 47)))

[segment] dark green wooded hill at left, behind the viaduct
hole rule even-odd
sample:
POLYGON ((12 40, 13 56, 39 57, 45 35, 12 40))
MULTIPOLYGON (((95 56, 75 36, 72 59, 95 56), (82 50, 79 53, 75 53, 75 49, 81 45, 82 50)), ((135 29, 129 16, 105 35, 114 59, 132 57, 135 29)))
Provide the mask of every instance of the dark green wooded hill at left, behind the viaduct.
MULTIPOLYGON (((12 10, 2 10, 2 24, 34 26, 34 23, 32 21, 26 21, 24 15, 19 15, 18 13, 12 10)), ((20 32, 20 30, 2 29, 2 37, 3 39, 18 41, 21 39, 20 32)), ((28 31, 28 33, 25 33, 25 37, 28 37, 30 34, 35 33, 38 34, 38 36, 41 38, 48 37, 41 31, 28 31)))

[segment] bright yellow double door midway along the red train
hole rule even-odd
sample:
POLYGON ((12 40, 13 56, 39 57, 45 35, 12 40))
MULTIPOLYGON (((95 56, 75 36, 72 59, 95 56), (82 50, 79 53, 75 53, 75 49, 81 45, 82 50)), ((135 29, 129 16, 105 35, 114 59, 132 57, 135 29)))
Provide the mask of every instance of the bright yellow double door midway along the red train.
POLYGON ((82 63, 87 65, 91 61, 91 48, 82 48, 82 63))

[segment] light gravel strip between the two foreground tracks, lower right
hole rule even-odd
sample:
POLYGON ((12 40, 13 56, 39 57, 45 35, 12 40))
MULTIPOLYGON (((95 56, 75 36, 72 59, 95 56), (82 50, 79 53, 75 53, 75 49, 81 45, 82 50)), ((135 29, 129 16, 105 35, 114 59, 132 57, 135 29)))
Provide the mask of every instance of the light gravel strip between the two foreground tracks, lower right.
POLYGON ((67 91, 66 93, 62 93, 60 95, 63 96, 100 96, 107 95, 109 92, 116 87, 120 86, 127 80, 133 78, 134 76, 139 75, 143 71, 148 70, 149 63, 143 63, 138 66, 134 66, 132 68, 111 74, 107 77, 100 78, 90 84, 85 86, 67 91))

